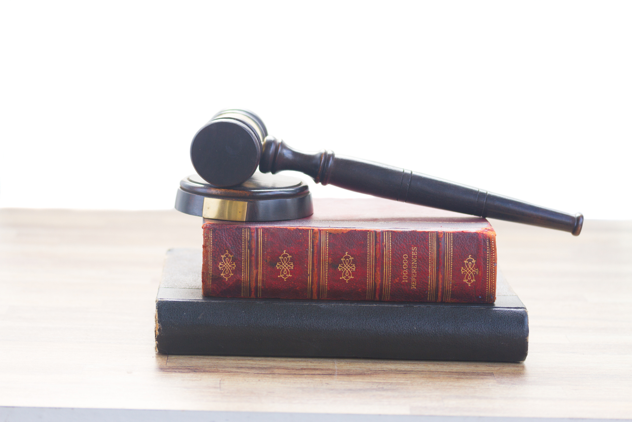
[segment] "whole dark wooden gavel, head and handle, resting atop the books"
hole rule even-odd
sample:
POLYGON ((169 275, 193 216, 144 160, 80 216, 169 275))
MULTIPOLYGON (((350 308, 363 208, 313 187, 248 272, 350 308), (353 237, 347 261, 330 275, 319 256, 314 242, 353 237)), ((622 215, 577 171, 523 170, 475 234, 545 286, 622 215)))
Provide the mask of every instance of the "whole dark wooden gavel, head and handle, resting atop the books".
POLYGON ((416 171, 336 156, 333 151, 296 151, 268 135, 264 122, 251 111, 225 109, 193 137, 191 162, 200 177, 217 187, 246 182, 257 170, 301 171, 322 185, 409 202, 483 218, 515 221, 571 232, 577 236, 583 215, 567 214, 518 199, 493 194, 416 171))

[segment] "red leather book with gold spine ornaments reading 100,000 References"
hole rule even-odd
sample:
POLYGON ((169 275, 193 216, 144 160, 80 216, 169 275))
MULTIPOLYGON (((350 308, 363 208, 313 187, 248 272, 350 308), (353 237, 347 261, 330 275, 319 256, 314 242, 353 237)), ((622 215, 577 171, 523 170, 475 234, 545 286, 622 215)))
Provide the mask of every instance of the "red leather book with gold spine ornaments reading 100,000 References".
POLYGON ((202 291, 216 297, 491 303, 485 218, 386 199, 315 199, 308 218, 204 220, 202 291))

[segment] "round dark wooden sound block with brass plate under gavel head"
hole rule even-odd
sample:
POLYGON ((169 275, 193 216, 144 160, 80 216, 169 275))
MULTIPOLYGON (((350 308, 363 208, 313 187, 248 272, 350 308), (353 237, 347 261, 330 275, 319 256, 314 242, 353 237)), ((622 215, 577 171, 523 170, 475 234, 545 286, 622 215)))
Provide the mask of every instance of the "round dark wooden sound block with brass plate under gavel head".
POLYGON ((241 185, 210 185, 198 175, 180 181, 176 209, 226 221, 295 220, 312 215, 312 194, 296 177, 255 173, 241 185))

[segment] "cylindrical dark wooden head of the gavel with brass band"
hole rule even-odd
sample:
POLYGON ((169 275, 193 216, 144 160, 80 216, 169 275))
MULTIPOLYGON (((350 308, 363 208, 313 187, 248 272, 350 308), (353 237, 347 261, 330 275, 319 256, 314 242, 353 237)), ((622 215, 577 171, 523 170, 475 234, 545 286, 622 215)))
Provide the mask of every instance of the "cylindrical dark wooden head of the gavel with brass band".
POLYGON ((264 122, 255 113, 222 110, 193 137, 191 163, 212 185, 240 185, 257 170, 267 134, 264 122))

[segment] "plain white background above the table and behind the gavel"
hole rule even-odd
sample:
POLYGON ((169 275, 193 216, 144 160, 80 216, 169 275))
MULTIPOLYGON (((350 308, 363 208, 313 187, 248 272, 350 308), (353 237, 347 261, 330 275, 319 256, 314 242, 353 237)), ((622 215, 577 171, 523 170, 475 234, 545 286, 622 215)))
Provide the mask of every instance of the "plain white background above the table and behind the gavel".
POLYGON ((5 1, 0 36, 3 207, 172 208, 238 107, 305 151, 632 218, 630 2, 5 1))

